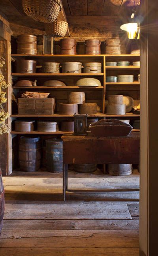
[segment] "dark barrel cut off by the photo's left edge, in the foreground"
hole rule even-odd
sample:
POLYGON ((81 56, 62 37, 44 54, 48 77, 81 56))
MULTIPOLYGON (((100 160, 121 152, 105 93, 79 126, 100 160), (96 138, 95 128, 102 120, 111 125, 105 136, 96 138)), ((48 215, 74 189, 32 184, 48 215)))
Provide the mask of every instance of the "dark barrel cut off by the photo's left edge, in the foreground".
POLYGON ((2 182, 2 172, 0 169, 0 234, 2 232, 3 217, 4 217, 4 186, 2 182))

